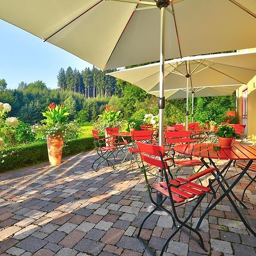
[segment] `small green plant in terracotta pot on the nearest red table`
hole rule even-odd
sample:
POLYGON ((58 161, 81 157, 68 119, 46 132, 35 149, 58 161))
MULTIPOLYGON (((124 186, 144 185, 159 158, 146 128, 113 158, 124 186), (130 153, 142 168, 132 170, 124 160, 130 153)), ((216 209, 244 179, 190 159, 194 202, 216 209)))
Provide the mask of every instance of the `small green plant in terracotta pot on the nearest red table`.
POLYGON ((216 135, 222 148, 230 148, 233 138, 236 137, 234 128, 228 124, 219 125, 216 135))

